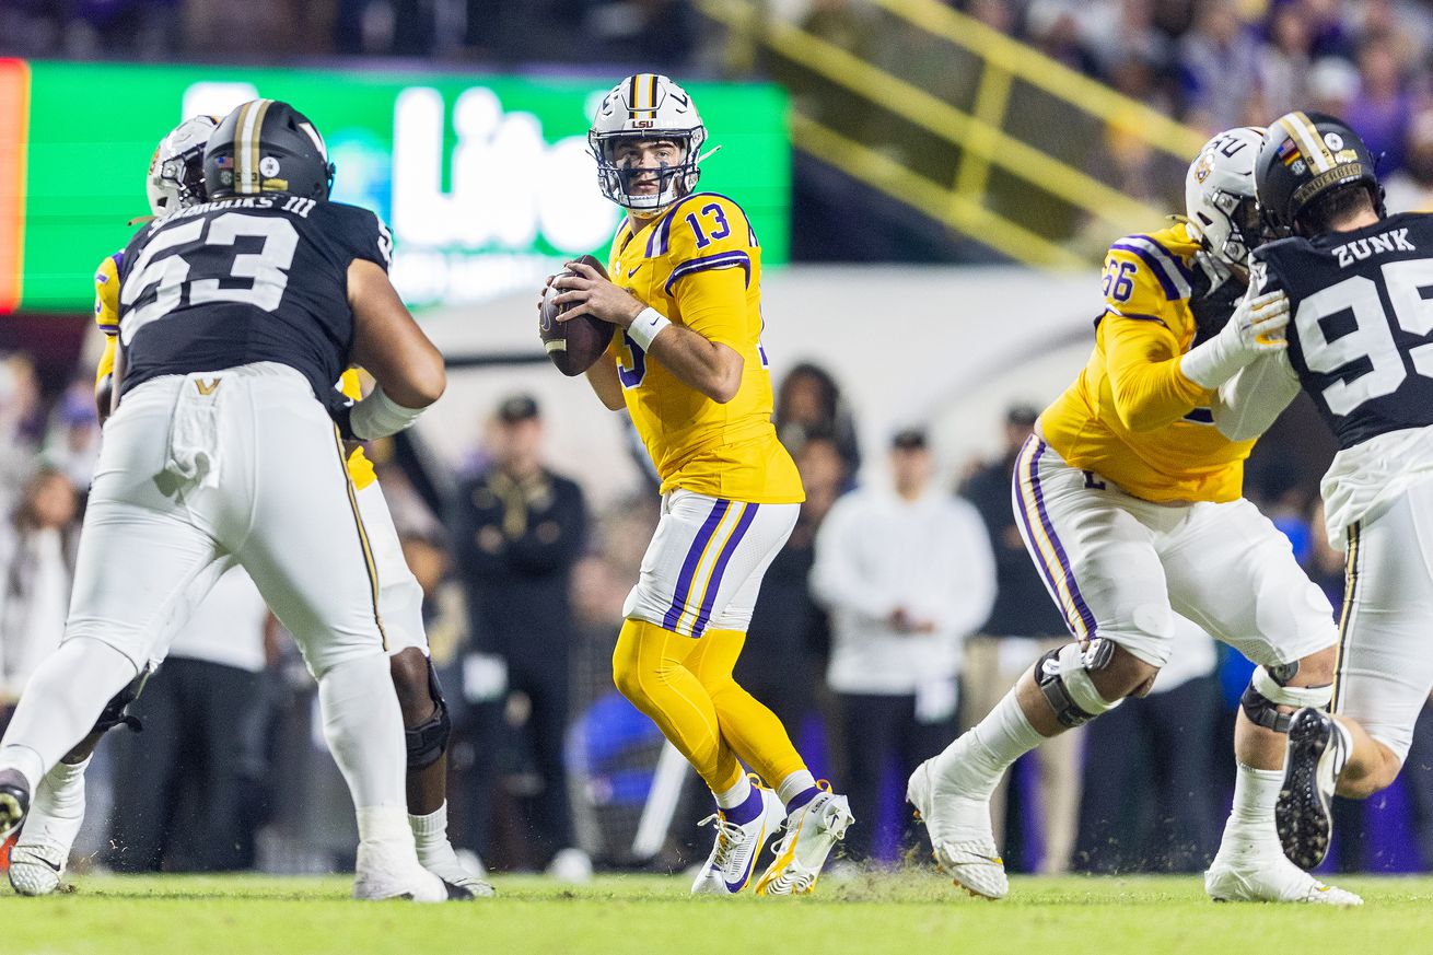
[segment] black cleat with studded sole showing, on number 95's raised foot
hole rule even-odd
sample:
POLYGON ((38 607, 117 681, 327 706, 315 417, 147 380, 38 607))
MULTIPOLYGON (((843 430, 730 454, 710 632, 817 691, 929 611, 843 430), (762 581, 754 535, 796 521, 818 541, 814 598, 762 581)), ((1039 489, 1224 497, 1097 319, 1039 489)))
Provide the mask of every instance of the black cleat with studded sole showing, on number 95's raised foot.
POLYGON ((1334 829, 1330 803, 1347 760, 1347 744, 1331 716, 1311 707, 1294 714, 1274 826, 1284 856, 1300 869, 1313 869, 1328 855, 1334 829))

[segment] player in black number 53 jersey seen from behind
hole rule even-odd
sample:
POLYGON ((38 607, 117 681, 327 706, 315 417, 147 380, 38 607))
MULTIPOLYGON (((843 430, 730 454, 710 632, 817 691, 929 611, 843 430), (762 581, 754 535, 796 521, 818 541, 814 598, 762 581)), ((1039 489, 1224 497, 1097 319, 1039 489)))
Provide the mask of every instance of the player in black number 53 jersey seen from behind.
POLYGON ((418 865, 408 830, 373 553, 328 407, 340 373, 361 363, 378 384, 342 410, 342 430, 390 434, 443 393, 443 358, 388 282, 378 219, 327 201, 334 169, 307 118, 245 103, 211 135, 203 166, 215 201, 146 225, 126 248, 122 402, 64 640, 0 741, 0 837, 238 562, 318 680, 357 807, 354 895, 443 901, 450 886, 418 865))

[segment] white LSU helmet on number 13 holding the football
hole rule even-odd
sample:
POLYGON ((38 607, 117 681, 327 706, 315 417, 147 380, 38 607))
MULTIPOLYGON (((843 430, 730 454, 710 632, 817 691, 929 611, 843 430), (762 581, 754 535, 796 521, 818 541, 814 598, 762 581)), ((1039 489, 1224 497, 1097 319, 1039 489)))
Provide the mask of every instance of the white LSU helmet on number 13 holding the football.
MULTIPOLYGON (((598 185, 602 195, 636 215, 655 215, 691 195, 701 178, 698 163, 706 141, 706 128, 686 90, 665 76, 638 73, 612 87, 602 98, 588 132, 588 145, 598 161, 598 185), (653 195, 633 195, 629 189, 633 169, 615 161, 616 145, 623 139, 672 139, 682 146, 682 161, 658 168, 659 189, 653 195)), ((715 149, 712 151, 715 152, 715 149)))

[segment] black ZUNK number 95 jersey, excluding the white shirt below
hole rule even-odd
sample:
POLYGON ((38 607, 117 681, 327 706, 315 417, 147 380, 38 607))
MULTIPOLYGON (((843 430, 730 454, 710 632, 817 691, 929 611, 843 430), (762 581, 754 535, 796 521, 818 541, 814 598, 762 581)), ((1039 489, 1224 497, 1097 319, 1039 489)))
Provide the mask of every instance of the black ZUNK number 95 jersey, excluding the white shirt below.
POLYGON ((1270 242, 1251 282, 1288 294, 1288 360, 1340 447, 1433 424, 1433 215, 1270 242))

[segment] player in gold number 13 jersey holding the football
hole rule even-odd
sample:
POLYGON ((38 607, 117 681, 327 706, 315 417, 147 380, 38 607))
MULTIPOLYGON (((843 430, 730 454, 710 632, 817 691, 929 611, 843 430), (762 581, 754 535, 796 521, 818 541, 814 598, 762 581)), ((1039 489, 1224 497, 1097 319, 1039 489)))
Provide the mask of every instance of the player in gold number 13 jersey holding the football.
POLYGON ((662 480, 662 518, 625 607, 618 688, 652 717, 716 799, 716 842, 695 893, 735 895, 778 826, 758 895, 810 892, 851 823, 780 720, 732 680, 761 578, 804 498, 771 424, 761 346, 761 244, 732 199, 694 192, 706 129, 691 96, 639 73, 609 92, 589 142, 603 194, 626 209, 606 281, 553 280, 570 320, 618 331, 588 371, 628 409, 662 480), (754 784, 742 763, 774 789, 754 784))

